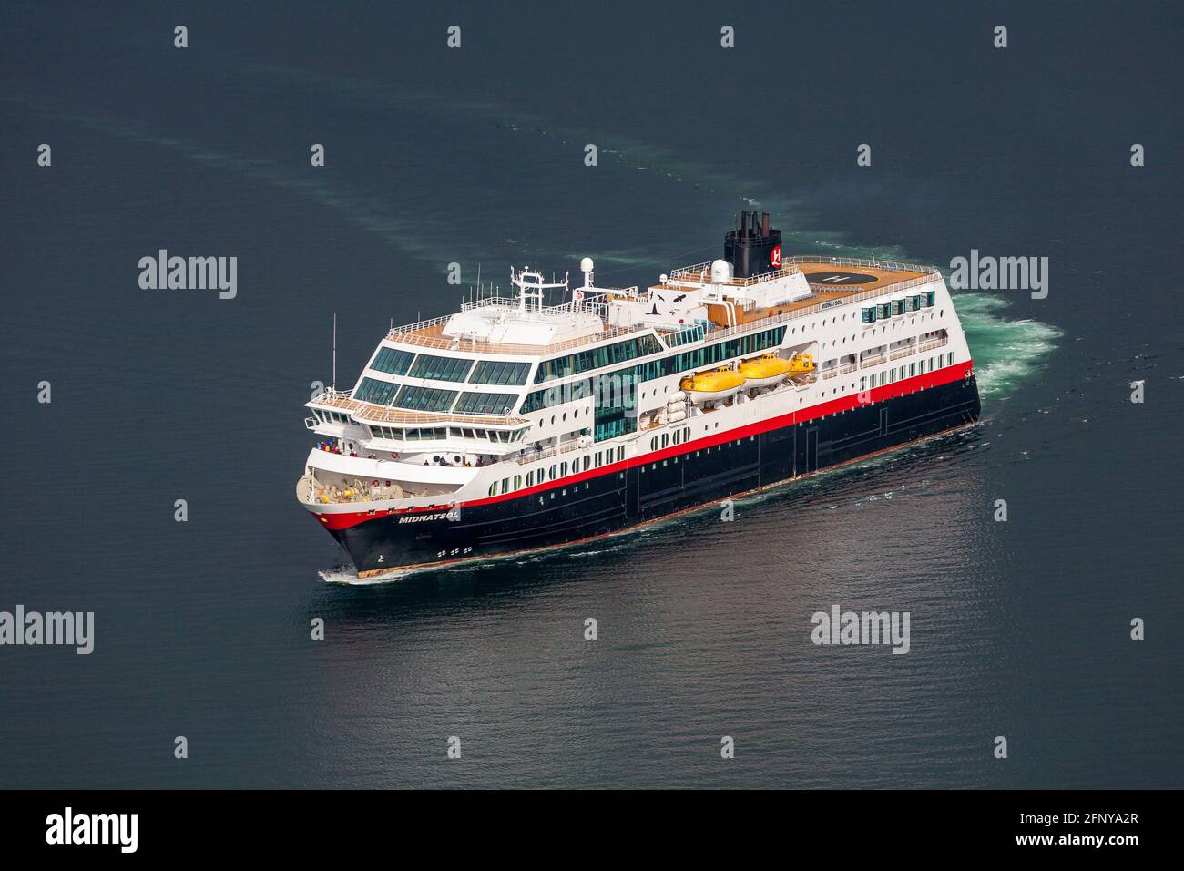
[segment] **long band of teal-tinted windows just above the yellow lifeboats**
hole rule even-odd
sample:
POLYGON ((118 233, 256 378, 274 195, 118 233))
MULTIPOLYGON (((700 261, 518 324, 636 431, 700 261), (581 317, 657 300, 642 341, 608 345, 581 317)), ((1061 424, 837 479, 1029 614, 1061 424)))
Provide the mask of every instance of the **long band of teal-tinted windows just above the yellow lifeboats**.
MULTIPOLYGON (((599 396, 601 405, 631 406, 633 386, 639 382, 648 382, 669 374, 681 374, 690 370, 704 369, 734 357, 767 351, 771 347, 780 345, 784 338, 785 327, 774 327, 773 329, 765 329, 752 335, 742 335, 736 339, 707 345, 694 351, 686 351, 657 360, 639 363, 636 366, 625 366, 593 378, 584 378, 583 380, 555 385, 546 390, 535 390, 532 393, 527 393, 526 402, 522 403, 521 414, 554 408, 555 405, 585 399, 590 396, 599 396)), ((542 369, 540 367, 539 371, 542 372, 542 369)), ((562 374, 562 372, 559 374, 562 374)), ((551 377, 558 378, 559 376, 551 377)), ((535 380, 541 379, 535 378, 535 380)))

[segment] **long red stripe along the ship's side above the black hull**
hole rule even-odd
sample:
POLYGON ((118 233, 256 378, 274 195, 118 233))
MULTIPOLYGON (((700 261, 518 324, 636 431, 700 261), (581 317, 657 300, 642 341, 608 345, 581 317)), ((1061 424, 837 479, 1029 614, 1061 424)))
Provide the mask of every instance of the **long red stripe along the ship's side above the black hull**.
MULTIPOLYGON (((877 402, 883 402, 886 399, 894 399, 899 396, 905 396, 907 393, 914 393, 918 390, 926 390, 928 388, 940 388, 944 384, 950 384, 960 378, 969 378, 974 371, 973 363, 966 360, 964 363, 955 363, 953 366, 946 366, 939 369, 934 372, 926 372, 925 374, 914 376, 912 378, 906 378, 905 380, 894 382, 893 384, 886 384, 882 388, 871 388, 866 392, 848 393, 847 396, 838 397, 836 399, 830 399, 828 402, 818 403, 817 405, 811 405, 809 408, 798 409, 797 411, 790 411, 778 417, 771 417, 766 421, 757 421, 755 423, 749 423, 744 427, 736 427, 735 429, 729 429, 726 431, 709 433, 699 438, 691 438, 690 441, 683 442, 682 444, 674 444, 669 448, 662 450, 654 450, 643 456, 631 456, 628 460, 622 460, 620 462, 609 463, 607 466, 600 466, 594 469, 588 469, 587 472, 573 473, 566 478, 560 478, 554 481, 546 481, 543 483, 536 483, 533 487, 523 487, 522 489, 513 491, 511 493, 502 493, 496 497, 488 497, 485 499, 474 499, 468 502, 458 502, 456 505, 443 504, 443 505, 426 505, 416 508, 394 508, 394 510, 377 510, 373 513, 361 511, 350 512, 345 514, 317 514, 316 518, 329 530, 345 530, 350 526, 356 526, 360 523, 366 523, 367 520, 373 520, 377 517, 385 517, 387 514, 407 514, 407 513, 424 513, 424 512, 446 512, 451 508, 459 506, 476 506, 476 505, 491 505, 494 502, 504 502, 511 499, 521 499, 522 497, 533 495, 535 493, 543 493, 549 489, 555 489, 556 487, 567 487, 580 481, 586 481, 592 478, 599 478, 600 475, 611 475, 617 472, 623 472, 628 468, 635 466, 644 466, 646 463, 657 462, 659 460, 668 460, 673 456, 681 456, 682 454, 689 454, 693 450, 702 450, 703 448, 713 448, 716 444, 723 444, 725 442, 735 441, 736 438, 745 438, 748 436, 760 435, 761 433, 768 433, 770 430, 781 429, 783 427, 793 427, 798 423, 809 423, 810 421, 816 421, 826 415, 835 415, 839 411, 849 411, 850 409, 858 408, 861 405, 875 404, 877 402), (864 396, 868 401, 862 402, 861 396, 864 396)), ((710 418, 708 418, 710 420, 710 418)), ((702 418, 696 418, 696 421, 702 421, 702 418)), ((596 446, 590 446, 586 450, 593 450, 596 446)), ((616 449, 613 447, 612 449, 616 449)), ((574 453, 574 451, 573 451, 574 453)), ((584 454, 581 453, 580 456, 584 454)), ((556 461, 561 462, 561 460, 556 461)))

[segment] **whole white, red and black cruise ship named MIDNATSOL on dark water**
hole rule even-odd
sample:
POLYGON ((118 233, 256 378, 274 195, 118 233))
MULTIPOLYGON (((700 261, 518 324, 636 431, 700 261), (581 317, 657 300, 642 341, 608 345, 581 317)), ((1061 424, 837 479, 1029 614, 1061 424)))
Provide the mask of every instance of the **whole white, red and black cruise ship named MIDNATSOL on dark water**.
POLYGON ((510 297, 391 329, 309 402, 298 501, 359 577, 584 542, 979 416, 941 273, 783 256, 745 212, 723 256, 646 289, 510 269, 510 297), (551 303, 551 305, 548 305, 551 303))

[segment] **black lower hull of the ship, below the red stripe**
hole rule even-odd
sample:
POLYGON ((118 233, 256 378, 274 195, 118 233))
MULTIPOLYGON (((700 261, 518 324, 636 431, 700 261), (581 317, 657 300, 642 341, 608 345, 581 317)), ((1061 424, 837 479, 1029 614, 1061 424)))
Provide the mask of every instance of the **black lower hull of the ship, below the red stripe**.
POLYGON ((681 453, 636 457, 521 495, 444 511, 379 514, 329 531, 360 577, 553 547, 958 429, 977 421, 979 411, 976 378, 969 374, 777 429, 742 428, 713 444, 691 441, 681 453))

